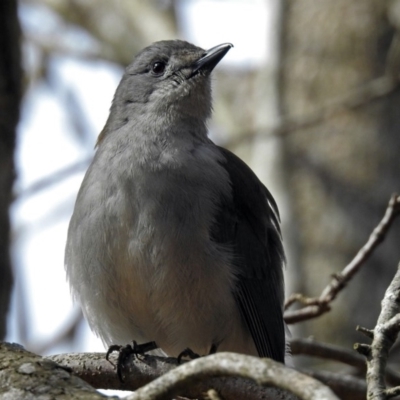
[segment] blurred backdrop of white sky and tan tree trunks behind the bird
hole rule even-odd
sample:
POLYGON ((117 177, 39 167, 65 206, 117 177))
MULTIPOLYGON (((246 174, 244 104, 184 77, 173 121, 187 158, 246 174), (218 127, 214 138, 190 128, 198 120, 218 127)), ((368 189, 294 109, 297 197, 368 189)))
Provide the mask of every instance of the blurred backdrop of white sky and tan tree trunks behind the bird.
MULTIPOLYGON (((71 301, 68 222, 124 67, 162 39, 234 44, 213 73, 210 136, 278 202, 287 295, 319 295, 400 191, 400 91, 381 79, 398 78, 399 14, 394 0, 19 1, 12 201, 11 185, 0 187, 4 210, 11 203, 11 229, 0 228, 5 338, 40 354, 103 350, 71 301)), ((0 174, 12 176, 13 145, 0 151, 0 174)), ((291 327, 293 336, 349 349, 363 340, 355 327, 375 325, 399 260, 397 221, 332 311, 291 327)))

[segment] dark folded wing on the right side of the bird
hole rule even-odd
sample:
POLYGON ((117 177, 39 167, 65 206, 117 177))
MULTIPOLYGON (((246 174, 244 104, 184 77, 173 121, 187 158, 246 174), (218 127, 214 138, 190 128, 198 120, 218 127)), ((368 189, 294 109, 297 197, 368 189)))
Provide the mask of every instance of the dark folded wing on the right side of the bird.
POLYGON ((235 298, 260 357, 284 361, 283 270, 285 261, 274 198, 253 171, 230 151, 223 167, 232 198, 222 200, 211 237, 233 248, 235 298))

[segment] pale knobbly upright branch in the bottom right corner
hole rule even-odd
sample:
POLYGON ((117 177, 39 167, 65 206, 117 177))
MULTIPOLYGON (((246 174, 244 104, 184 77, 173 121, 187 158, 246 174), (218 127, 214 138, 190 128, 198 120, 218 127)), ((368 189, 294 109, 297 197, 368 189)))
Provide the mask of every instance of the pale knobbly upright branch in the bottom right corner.
POLYGON ((367 359, 368 400, 386 400, 400 392, 400 387, 386 389, 385 369, 390 348, 400 330, 400 264, 382 300, 382 310, 374 328, 372 344, 356 344, 367 359))

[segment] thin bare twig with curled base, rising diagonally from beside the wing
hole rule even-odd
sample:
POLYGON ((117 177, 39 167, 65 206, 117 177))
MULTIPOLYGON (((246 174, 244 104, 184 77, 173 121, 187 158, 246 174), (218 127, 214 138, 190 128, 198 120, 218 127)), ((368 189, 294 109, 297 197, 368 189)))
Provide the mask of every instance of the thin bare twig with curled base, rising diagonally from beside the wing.
POLYGON ((359 250, 353 260, 343 269, 342 272, 333 276, 332 281, 322 291, 319 297, 305 298, 305 296, 300 294, 293 294, 289 297, 285 308, 298 301, 305 304, 305 307, 295 311, 286 310, 286 323, 293 324, 307 319, 316 318, 329 311, 330 303, 371 256, 376 247, 384 240, 392 222, 399 213, 400 196, 394 194, 390 198, 385 215, 372 231, 367 243, 359 250))

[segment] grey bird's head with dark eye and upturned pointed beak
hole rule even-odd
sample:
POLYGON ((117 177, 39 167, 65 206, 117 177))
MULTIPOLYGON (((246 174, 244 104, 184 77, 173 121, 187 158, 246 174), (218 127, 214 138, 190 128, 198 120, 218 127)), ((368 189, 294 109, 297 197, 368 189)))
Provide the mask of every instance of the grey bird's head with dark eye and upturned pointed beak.
POLYGON ((152 123, 157 118, 206 121, 212 109, 210 73, 231 47, 225 43, 203 50, 165 40, 144 48, 125 70, 106 127, 116 129, 138 115, 152 123))

